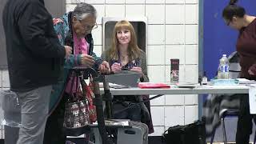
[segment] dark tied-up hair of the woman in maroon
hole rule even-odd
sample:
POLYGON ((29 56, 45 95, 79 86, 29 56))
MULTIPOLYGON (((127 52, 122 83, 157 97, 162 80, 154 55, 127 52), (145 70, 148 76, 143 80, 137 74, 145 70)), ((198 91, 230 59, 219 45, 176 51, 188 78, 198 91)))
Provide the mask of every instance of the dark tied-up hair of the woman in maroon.
POLYGON ((222 17, 227 20, 232 20, 234 16, 238 18, 243 18, 246 14, 246 10, 242 6, 238 6, 236 3, 238 0, 230 0, 228 6, 222 11, 222 17))

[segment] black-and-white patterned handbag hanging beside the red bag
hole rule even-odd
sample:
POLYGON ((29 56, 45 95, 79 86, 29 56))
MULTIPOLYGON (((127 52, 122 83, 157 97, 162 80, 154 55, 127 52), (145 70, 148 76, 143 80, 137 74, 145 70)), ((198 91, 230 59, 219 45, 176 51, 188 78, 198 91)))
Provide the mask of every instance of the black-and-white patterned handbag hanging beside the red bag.
POLYGON ((85 91, 80 89, 79 85, 75 85, 76 93, 71 93, 71 90, 74 86, 74 79, 80 80, 82 82, 82 78, 78 76, 77 78, 72 79, 72 85, 70 87, 70 98, 68 102, 65 104, 65 114, 64 114, 64 124, 65 128, 80 128, 83 126, 90 125, 89 118, 89 110, 88 110, 88 101, 85 97, 81 95, 85 95, 85 91))

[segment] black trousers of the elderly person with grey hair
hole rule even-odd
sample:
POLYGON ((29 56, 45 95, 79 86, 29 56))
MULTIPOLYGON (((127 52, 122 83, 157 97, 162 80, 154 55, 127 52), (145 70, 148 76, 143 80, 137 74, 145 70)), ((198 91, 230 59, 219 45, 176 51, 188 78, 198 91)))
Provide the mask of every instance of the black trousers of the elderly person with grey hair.
POLYGON ((48 117, 43 144, 66 143, 66 134, 63 129, 66 98, 64 95, 54 112, 48 117))

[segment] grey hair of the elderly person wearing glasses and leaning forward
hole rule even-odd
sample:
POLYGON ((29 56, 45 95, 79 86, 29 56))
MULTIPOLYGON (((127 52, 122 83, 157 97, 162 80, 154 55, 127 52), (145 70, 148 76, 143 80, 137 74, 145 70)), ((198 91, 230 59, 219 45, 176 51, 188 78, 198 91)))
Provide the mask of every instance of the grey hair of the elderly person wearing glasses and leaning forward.
POLYGON ((94 8, 94 6, 85 2, 81 2, 78 4, 78 6, 75 6, 72 15, 73 17, 78 18, 78 20, 82 20, 83 18, 86 18, 87 15, 93 15, 96 18, 97 11, 94 8))

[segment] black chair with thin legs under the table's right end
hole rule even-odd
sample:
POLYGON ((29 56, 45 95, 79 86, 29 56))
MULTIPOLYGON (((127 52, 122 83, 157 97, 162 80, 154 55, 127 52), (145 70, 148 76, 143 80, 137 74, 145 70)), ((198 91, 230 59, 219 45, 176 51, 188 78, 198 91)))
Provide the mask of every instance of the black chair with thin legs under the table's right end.
MULTIPOLYGON (((222 115, 221 115, 221 124, 222 124, 222 131, 223 131, 223 140, 224 140, 224 144, 227 144, 226 142, 226 128, 225 128, 225 118, 227 116, 238 116, 239 114, 239 110, 238 109, 226 109, 222 115)), ((210 138, 210 144, 213 144, 214 142, 214 134, 212 135, 212 137, 210 138)), ((256 142, 256 133, 254 134, 254 144, 256 142)))

